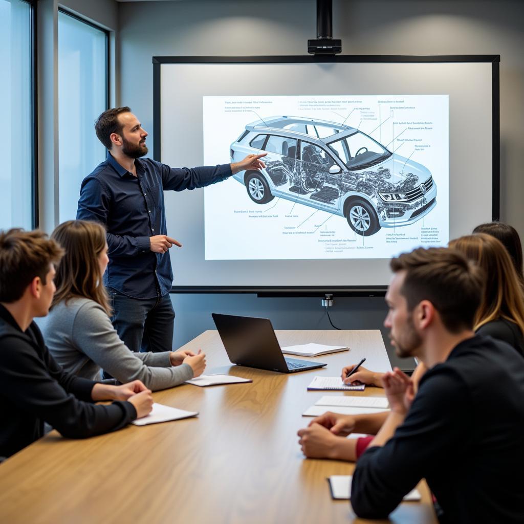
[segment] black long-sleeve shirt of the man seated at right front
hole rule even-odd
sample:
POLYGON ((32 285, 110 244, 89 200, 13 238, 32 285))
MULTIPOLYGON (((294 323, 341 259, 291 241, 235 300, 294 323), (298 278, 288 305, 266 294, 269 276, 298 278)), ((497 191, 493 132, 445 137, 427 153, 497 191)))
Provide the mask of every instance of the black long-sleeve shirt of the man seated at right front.
POLYGON ((475 336, 428 370, 406 420, 359 459, 351 504, 384 518, 421 478, 445 522, 524 522, 524 361, 475 336))

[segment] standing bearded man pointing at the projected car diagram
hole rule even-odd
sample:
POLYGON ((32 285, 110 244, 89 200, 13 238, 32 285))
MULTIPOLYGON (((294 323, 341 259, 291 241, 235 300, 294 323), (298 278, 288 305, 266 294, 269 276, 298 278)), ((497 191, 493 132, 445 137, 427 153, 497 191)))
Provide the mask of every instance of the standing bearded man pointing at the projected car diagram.
POLYGON ((167 251, 181 247, 167 236, 163 191, 204 187, 245 169, 265 167, 261 155, 214 167, 170 168, 144 158, 147 133, 129 107, 102 113, 96 136, 107 159, 83 181, 77 219, 107 228, 110 263, 104 284, 110 293, 113 324, 132 351, 166 351, 172 345, 173 281, 167 251))

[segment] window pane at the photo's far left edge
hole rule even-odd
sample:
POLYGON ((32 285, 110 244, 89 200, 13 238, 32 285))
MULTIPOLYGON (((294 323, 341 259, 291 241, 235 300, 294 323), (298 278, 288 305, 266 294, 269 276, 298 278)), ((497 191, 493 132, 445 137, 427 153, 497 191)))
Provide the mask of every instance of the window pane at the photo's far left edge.
POLYGON ((32 6, 0 0, 0 122, 4 155, 0 169, 0 229, 36 225, 34 53, 32 6))

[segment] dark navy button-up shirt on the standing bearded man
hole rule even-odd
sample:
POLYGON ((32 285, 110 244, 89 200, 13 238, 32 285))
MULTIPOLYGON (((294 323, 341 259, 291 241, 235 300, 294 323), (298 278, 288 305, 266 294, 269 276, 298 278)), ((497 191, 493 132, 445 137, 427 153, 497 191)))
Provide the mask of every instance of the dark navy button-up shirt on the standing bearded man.
POLYGON ((77 219, 107 228, 110 262, 104 284, 148 299, 169 293, 173 282, 169 252, 149 249, 149 237, 167 235, 163 191, 204 187, 232 173, 230 164, 178 169, 150 158, 135 160, 135 166, 136 177, 108 152, 107 160, 82 181, 77 219))

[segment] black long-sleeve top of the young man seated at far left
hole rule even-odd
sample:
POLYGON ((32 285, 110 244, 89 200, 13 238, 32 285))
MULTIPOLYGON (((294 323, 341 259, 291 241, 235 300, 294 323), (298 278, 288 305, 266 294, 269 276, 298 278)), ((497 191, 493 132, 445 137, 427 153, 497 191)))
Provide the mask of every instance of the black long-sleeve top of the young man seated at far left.
POLYGON ((23 332, 0 305, 0 455, 43 435, 43 422, 63 436, 84 438, 123 428, 136 418, 130 402, 94 405, 96 382, 64 372, 32 322, 23 332))

